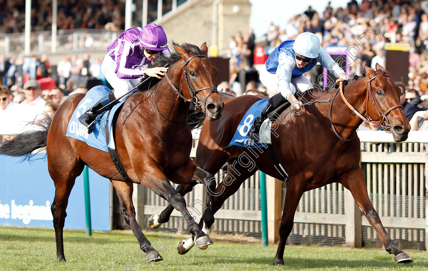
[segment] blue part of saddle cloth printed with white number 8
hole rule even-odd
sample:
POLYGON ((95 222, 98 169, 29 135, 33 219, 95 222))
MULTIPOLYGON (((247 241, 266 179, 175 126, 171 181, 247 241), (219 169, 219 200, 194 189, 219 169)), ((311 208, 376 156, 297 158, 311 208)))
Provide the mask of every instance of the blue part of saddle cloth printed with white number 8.
POLYGON ((238 127, 236 128, 235 134, 233 135, 232 140, 230 141, 229 145, 226 147, 229 147, 230 145, 236 145, 240 147, 245 148, 265 148, 267 144, 272 143, 259 143, 254 142, 254 140, 247 137, 247 133, 250 130, 251 126, 254 123, 254 119, 260 115, 261 111, 266 106, 266 103, 268 103, 269 99, 263 99, 255 102, 253 105, 251 105, 250 109, 245 113, 242 120, 239 122, 238 127))

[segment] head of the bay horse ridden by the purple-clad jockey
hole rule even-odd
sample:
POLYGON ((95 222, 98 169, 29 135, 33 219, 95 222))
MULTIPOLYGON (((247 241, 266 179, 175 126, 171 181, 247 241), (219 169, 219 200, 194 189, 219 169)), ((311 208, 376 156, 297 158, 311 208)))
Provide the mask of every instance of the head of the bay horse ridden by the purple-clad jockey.
POLYGON ((206 42, 202 44, 201 52, 198 54, 177 44, 174 46, 183 59, 185 80, 182 80, 180 88, 184 97, 195 102, 198 109, 205 113, 209 121, 219 119, 223 113, 224 103, 216 87, 218 70, 207 57, 206 42))

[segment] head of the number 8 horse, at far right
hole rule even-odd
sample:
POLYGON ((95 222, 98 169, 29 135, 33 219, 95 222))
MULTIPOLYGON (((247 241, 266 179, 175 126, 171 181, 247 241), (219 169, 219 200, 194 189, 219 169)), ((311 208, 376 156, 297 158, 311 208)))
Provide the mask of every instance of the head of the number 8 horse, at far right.
POLYGON ((369 78, 367 84, 367 118, 379 121, 381 126, 392 133, 395 142, 405 141, 410 131, 409 120, 400 104, 400 89, 391 74, 376 64, 376 71, 365 67, 369 78))

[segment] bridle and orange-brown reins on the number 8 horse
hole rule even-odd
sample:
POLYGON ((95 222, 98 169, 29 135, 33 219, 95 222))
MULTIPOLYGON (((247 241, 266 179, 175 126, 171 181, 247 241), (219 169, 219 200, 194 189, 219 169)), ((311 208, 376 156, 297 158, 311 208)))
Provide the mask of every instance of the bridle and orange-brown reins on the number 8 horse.
POLYGON ((344 94, 343 94, 343 79, 342 78, 339 78, 339 79, 337 79, 336 80, 336 84, 339 84, 339 88, 337 89, 337 92, 336 92, 336 94, 334 95, 334 97, 333 97, 333 100, 332 100, 332 102, 331 102, 331 106, 330 106, 330 122, 331 122, 331 126, 333 127, 333 131, 336 133, 336 136, 339 138, 339 139, 341 139, 341 140, 343 140, 343 141, 351 141, 351 140, 353 140, 355 137, 356 137, 356 135, 357 135, 357 133, 355 133, 355 135, 354 135, 354 137, 352 137, 351 139, 344 139, 344 138, 342 138, 341 136, 340 136, 340 134, 337 132, 337 130, 336 130, 336 128, 334 127, 334 124, 333 124, 333 121, 332 121, 332 118, 331 118, 331 113, 332 113, 332 106, 333 106, 333 101, 334 101, 334 98, 336 97, 336 95, 337 95, 337 93, 338 92, 340 92, 340 96, 342 97, 342 100, 344 101, 344 103, 347 105, 347 107, 349 107, 349 109, 351 109, 358 117, 360 117, 363 121, 364 121, 364 123, 366 123, 366 124, 368 124, 368 123, 372 123, 372 124, 380 124, 381 125, 381 127, 385 130, 385 131, 387 131, 387 132, 391 132, 390 131, 390 129, 392 128, 392 126, 389 124, 389 120, 388 120, 388 117, 387 117, 387 115, 391 112, 391 111, 393 111, 394 109, 397 109, 397 108, 403 108, 403 105, 401 105, 401 104, 397 104, 397 105, 395 105, 395 106, 392 106, 390 109, 388 109, 386 112, 384 112, 383 110, 382 110, 382 108, 381 108, 381 106, 379 105, 379 102, 378 102, 378 100, 376 99, 376 98, 374 98, 374 93, 373 93, 373 90, 371 89, 371 85, 370 85, 370 82, 372 81, 372 80, 374 80, 374 79, 376 79, 376 78, 378 78, 378 77, 380 77, 380 76, 387 76, 387 77, 391 77, 391 75, 388 75, 388 74, 385 74, 384 72, 382 72, 382 74, 378 74, 378 75, 376 75, 376 76, 373 76, 372 78, 370 78, 369 80, 368 80, 368 82, 367 82, 367 94, 366 94, 366 98, 365 98, 365 100, 366 100, 366 110, 367 110, 367 118, 366 117, 364 117, 363 115, 361 115, 360 114, 360 112, 358 112, 358 110, 356 110, 355 108, 354 108, 354 106, 352 106, 347 100, 346 100, 346 98, 345 98, 345 96, 344 96, 344 94), (370 97, 371 97, 371 101, 373 102, 373 105, 374 105, 374 107, 376 108, 376 111, 377 111, 377 113, 378 113, 378 116, 379 116, 379 120, 378 121, 375 121, 375 120, 373 120, 373 119, 371 119, 370 118, 370 116, 368 115, 368 99, 369 99, 369 96, 370 95, 370 97))

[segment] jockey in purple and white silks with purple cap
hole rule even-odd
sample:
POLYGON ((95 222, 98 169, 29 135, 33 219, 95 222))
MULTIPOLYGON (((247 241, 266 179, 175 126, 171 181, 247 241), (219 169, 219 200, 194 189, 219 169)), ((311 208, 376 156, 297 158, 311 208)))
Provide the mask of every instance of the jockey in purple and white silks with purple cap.
MULTIPOLYGON (((147 68, 147 64, 158 56, 171 56, 167 43, 164 29, 154 23, 149 23, 143 28, 130 28, 123 32, 107 47, 108 52, 101 65, 102 73, 114 92, 102 97, 78 118, 79 121, 90 128, 96 116, 107 108, 100 109, 115 100, 115 103, 119 102, 117 98, 137 87, 140 77, 146 75, 161 79, 168 68, 147 68)), ((120 101, 127 99, 132 93, 122 97, 120 101)), ((90 131, 88 129, 88 132, 90 131)))

